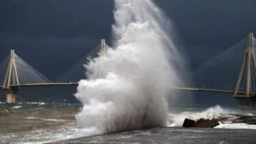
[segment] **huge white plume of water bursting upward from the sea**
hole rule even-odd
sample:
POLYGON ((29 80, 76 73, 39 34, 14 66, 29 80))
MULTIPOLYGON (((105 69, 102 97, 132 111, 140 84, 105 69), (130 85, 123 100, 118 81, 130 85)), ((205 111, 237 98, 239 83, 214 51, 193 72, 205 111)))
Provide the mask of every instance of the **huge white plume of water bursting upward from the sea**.
POLYGON ((171 23, 151 0, 115 0, 114 16, 114 47, 86 66, 76 119, 87 134, 167 126, 166 97, 177 78, 170 59, 178 57, 171 23))

